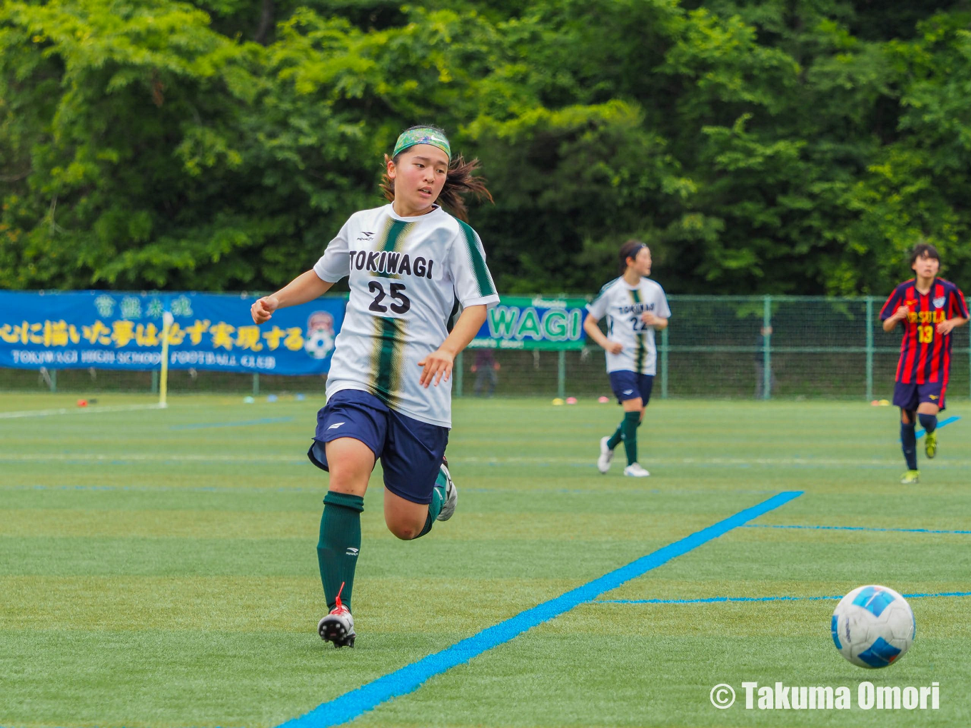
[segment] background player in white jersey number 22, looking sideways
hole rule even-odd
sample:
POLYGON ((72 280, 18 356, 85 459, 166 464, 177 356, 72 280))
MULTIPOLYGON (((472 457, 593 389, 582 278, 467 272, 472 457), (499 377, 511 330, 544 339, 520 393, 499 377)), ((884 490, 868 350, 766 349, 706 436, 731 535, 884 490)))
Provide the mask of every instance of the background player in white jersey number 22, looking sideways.
POLYGON ((654 331, 667 328, 671 310, 664 289, 648 278, 651 275, 651 249, 639 240, 628 240, 620 247, 619 278, 610 281, 586 307, 584 330, 607 351, 607 374, 623 419, 617 431, 600 440, 597 469, 610 470, 614 448, 623 442, 627 455, 625 476, 647 478, 651 474, 637 461, 637 428, 644 420, 644 409, 651 400, 657 366, 654 331), (597 325, 607 316, 607 335, 597 325))

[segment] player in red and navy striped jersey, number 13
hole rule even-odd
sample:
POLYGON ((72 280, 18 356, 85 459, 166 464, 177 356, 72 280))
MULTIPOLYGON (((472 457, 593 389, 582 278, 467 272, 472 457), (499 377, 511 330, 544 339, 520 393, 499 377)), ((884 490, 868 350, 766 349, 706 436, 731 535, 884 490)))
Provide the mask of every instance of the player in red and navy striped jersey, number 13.
POLYGON ((937 413, 945 408, 944 395, 951 374, 951 332, 968 322, 964 294, 951 281, 937 278, 941 258, 937 248, 921 244, 911 253, 916 278, 900 283, 884 304, 880 318, 884 331, 903 322, 904 338, 893 389, 893 404, 900 408, 900 444, 907 472, 900 480, 915 483, 917 435, 915 414, 926 432, 924 452, 937 454, 937 413))

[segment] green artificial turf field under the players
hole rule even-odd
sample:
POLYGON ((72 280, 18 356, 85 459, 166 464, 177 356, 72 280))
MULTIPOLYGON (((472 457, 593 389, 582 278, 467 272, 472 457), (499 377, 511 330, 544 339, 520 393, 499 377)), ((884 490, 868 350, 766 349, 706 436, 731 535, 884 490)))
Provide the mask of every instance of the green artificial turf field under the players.
POLYGON ((77 396, 0 394, 3 728, 273 728, 783 491, 803 494, 352 725, 971 724, 971 596, 911 598, 917 640, 878 671, 834 648, 836 599, 677 601, 865 583, 971 592, 966 402, 942 414, 964 419, 929 464, 919 440, 921 484, 904 486, 890 408, 656 401, 640 430, 652 477, 630 479, 620 451, 607 476, 594 466, 614 405, 456 400, 455 516, 396 540, 379 466, 357 643, 338 650, 315 631, 326 476, 304 453, 320 403, 192 396, 99 412, 149 400, 99 396, 83 411, 77 396), (854 708, 745 710, 746 680, 848 685, 854 708), (860 710, 863 680, 937 681, 940 709, 860 710), (739 695, 728 710, 709 700, 718 683, 739 695))

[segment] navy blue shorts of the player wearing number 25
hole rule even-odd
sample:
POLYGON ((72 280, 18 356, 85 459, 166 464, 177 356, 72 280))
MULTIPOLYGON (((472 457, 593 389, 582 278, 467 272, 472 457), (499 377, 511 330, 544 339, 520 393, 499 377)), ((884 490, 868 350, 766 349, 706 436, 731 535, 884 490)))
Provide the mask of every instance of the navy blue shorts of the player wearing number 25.
POLYGON ((359 440, 381 459, 385 488, 412 503, 431 503, 449 428, 396 413, 370 392, 342 389, 317 414, 310 461, 327 470, 324 443, 359 440))

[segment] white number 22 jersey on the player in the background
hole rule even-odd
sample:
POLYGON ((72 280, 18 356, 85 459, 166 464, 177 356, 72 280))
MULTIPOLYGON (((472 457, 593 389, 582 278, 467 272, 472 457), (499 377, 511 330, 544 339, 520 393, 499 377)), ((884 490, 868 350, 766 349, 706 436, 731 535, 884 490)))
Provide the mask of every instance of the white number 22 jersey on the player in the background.
POLYGON ((637 285, 631 286, 621 276, 601 288, 586 310, 598 321, 606 315, 607 338, 623 345, 619 354, 607 351, 608 372, 656 374, 654 327, 644 323, 641 314, 651 312, 658 318, 671 317, 660 285, 642 278, 637 285))

